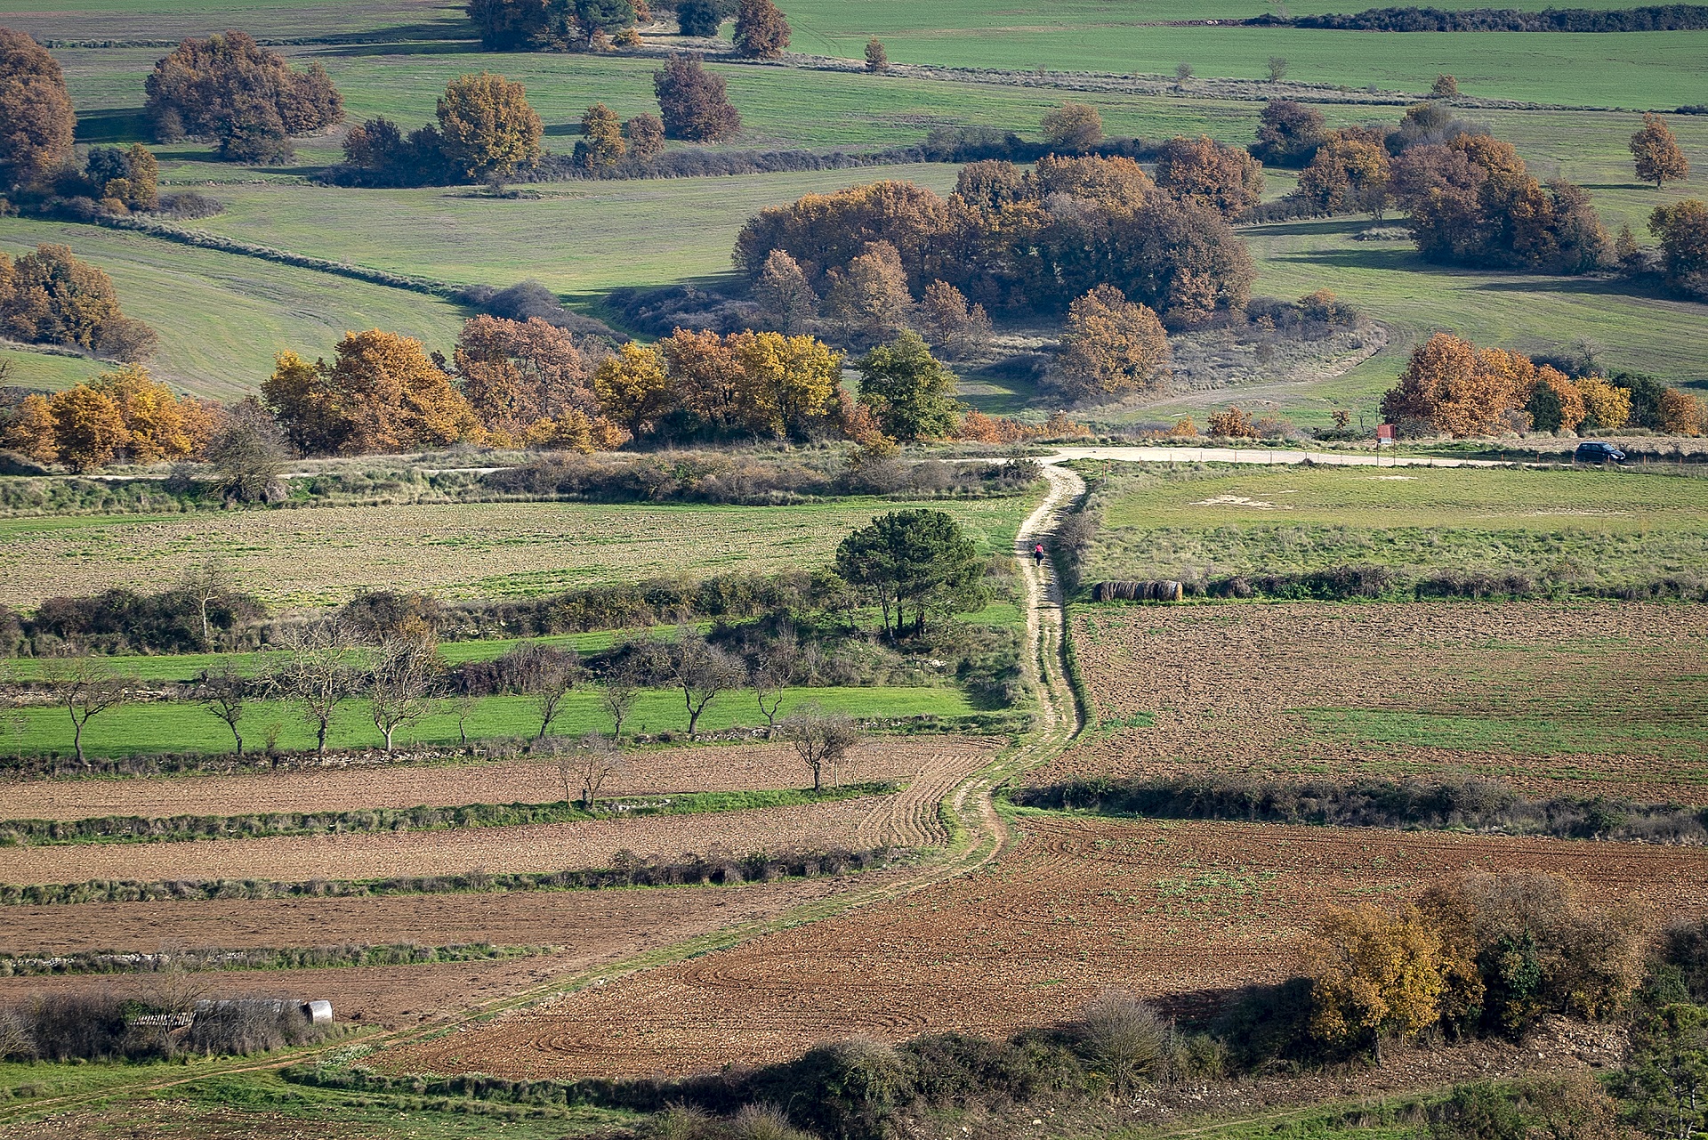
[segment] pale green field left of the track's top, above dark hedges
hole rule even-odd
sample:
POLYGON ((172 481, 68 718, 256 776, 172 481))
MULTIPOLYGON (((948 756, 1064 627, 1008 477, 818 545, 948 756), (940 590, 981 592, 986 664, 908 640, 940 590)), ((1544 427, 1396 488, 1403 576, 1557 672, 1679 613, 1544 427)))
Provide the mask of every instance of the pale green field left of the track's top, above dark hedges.
MULTIPOLYGON (((933 502, 984 552, 1008 550, 1032 497, 933 502)), ((167 516, 0 520, 0 603, 109 586, 161 590, 210 557, 273 605, 360 590, 536 596, 611 581, 772 573, 828 562, 856 526, 902 504, 466 502, 167 516)))

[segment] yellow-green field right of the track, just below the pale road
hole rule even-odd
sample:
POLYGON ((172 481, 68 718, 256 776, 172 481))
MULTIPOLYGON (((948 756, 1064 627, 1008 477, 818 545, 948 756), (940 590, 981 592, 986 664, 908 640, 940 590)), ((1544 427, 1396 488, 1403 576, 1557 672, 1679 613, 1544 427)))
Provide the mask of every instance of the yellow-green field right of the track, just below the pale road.
POLYGON ((1098 499, 1086 581, 1389 566, 1600 588, 1708 566, 1708 480, 1676 475, 1153 468, 1114 475, 1098 499))

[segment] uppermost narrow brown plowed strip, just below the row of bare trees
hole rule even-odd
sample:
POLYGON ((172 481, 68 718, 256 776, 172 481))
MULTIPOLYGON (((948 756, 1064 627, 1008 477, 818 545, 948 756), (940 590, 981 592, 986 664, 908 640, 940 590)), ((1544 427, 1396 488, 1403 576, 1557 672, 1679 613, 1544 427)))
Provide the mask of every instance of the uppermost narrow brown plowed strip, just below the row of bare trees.
MULTIPOLYGON (((945 752, 989 752, 979 740, 880 740, 856 749, 837 773, 844 783, 905 779, 945 752)), ((603 795, 745 791, 811 783, 794 749, 746 743, 714 749, 630 752, 603 795)), ((552 803, 564 798, 557 766, 514 757, 471 764, 398 764, 343 769, 181 776, 157 779, 34 779, 3 784, 0 819, 97 815, 239 815, 319 812, 420 803, 552 803)))

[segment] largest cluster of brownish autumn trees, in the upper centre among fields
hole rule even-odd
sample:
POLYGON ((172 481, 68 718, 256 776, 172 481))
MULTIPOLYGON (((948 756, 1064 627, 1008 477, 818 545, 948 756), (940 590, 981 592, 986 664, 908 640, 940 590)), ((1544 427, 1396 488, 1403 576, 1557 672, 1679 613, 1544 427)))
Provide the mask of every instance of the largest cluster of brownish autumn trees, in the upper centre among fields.
POLYGON ((1114 285, 1184 326, 1243 306, 1254 270, 1226 219, 1201 203, 1202 183, 1177 185, 1192 190, 1175 197, 1122 157, 1045 156, 1032 171, 974 162, 948 200, 881 181, 767 209, 741 229, 734 260, 755 284, 781 250, 820 294, 856 275, 905 280, 910 294, 943 280, 1008 313, 1061 313, 1114 285))

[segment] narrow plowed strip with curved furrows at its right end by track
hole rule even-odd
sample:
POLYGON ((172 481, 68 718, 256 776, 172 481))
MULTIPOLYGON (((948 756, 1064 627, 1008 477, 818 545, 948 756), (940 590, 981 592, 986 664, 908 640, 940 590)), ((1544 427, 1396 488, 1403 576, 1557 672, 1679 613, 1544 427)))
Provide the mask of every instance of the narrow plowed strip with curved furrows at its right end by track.
POLYGON ((605 867, 617 851, 658 860, 688 853, 746 855, 823 848, 915 848, 941 843, 936 803, 996 754, 991 740, 909 743, 907 786, 886 796, 832 803, 644 815, 579 824, 456 831, 326 834, 208 843, 14 848, 0 877, 14 884, 89 879, 379 879, 470 870, 541 872, 605 867))

